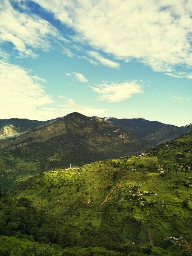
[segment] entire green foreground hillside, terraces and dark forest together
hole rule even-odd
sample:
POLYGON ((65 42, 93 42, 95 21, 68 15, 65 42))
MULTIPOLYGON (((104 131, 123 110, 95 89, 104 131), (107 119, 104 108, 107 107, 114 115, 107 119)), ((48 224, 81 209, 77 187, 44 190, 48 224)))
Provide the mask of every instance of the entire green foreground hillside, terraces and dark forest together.
MULTIPOLYGON (((174 166, 190 162, 191 144, 192 133, 135 157, 20 173, 0 200, 0 252, 181 255, 192 240, 192 175, 177 175, 174 166)), ((4 190, 9 173, 1 173, 4 190)))

